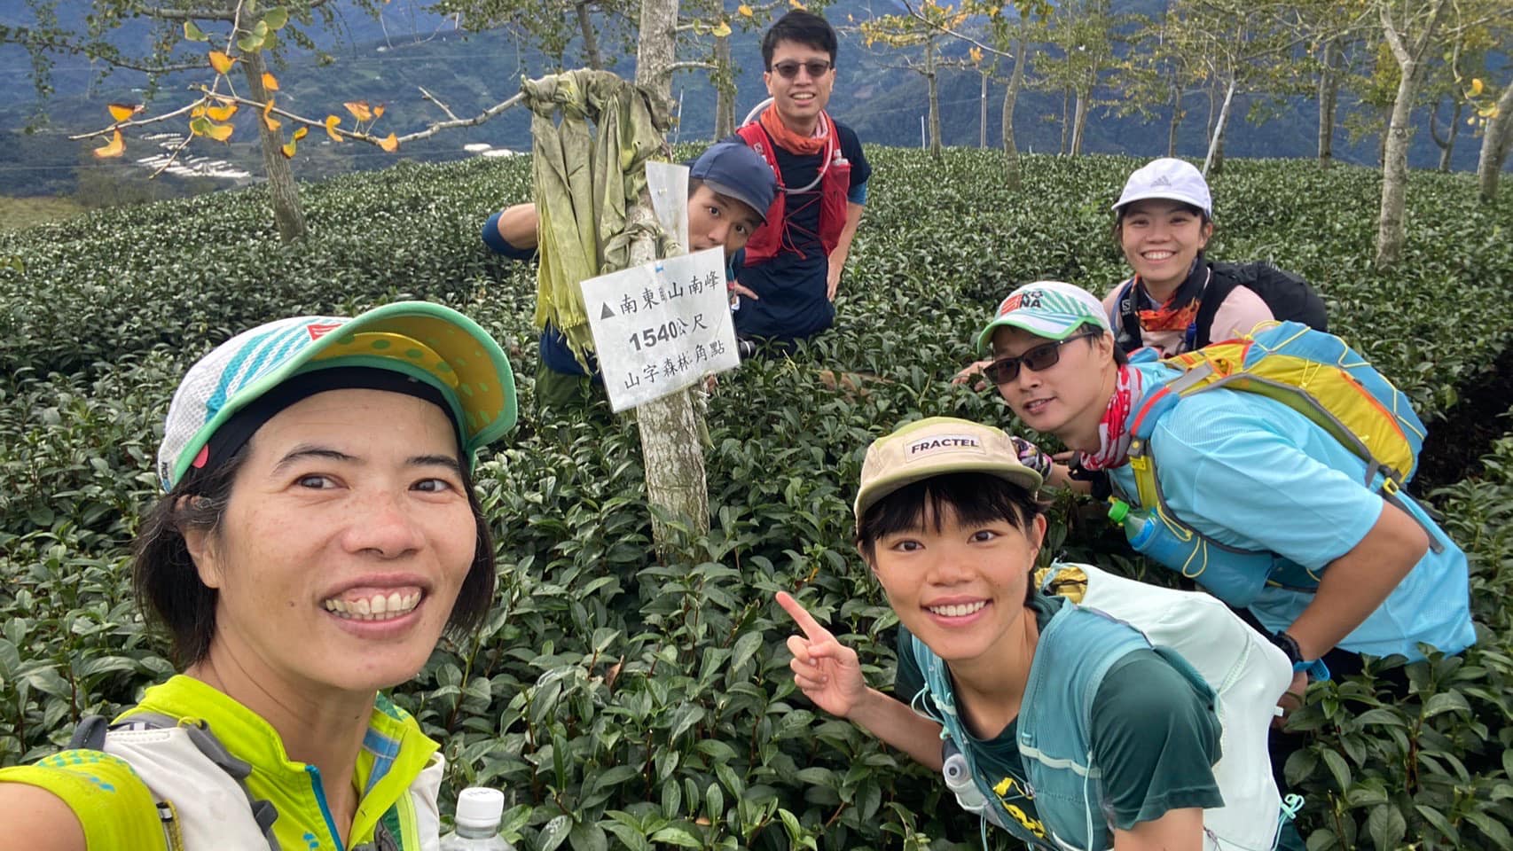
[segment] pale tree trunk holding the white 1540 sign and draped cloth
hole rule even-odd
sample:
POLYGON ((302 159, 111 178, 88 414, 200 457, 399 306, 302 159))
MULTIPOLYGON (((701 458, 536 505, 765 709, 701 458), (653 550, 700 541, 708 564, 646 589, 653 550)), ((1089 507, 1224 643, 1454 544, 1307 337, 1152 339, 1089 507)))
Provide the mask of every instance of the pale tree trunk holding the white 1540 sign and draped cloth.
MULTIPOLYGON (((640 41, 635 48, 635 83, 657 97, 672 100, 673 32, 678 0, 642 0, 640 41)), ((643 195, 626 227, 654 222, 651 197, 643 195)), ((631 245, 631 265, 657 258, 655 242, 642 231, 631 245)), ((699 414, 688 390, 663 396, 635 408, 646 466, 646 502, 652 506, 652 538, 663 555, 678 549, 673 523, 685 523, 694 535, 710 529, 710 488, 704 472, 699 414), (666 514, 666 520, 658 515, 666 514)))

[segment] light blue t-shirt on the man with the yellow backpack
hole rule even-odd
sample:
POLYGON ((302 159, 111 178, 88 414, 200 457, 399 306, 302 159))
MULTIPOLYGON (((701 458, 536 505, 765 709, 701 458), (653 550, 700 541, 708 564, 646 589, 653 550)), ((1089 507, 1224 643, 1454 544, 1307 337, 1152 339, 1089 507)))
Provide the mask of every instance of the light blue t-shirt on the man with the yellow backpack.
MULTIPOLYGON (((1162 364, 1136 369, 1147 387, 1177 375, 1162 364)), ((1353 550, 1386 505, 1363 485, 1365 461, 1301 413, 1257 393, 1215 388, 1186 396, 1156 420, 1148 446, 1162 494, 1183 523, 1221 544, 1272 552, 1315 574, 1353 550)), ((1138 493, 1129 466, 1111 475, 1121 493, 1138 493)), ((1339 647, 1422 659, 1416 647, 1422 641, 1459 653, 1477 638, 1466 555, 1412 497, 1401 496, 1443 549, 1430 549, 1339 647)), ((1268 586, 1250 611, 1266 629, 1280 630, 1312 600, 1306 591, 1268 586)))

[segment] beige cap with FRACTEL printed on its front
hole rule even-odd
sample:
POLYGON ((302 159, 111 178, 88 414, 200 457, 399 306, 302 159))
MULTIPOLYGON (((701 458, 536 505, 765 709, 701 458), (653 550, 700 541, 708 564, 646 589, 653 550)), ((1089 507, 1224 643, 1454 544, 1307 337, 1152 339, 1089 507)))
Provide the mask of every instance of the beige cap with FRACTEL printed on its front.
POLYGON ((1002 428, 929 417, 899 426, 867 447, 856 491, 856 523, 885 496, 949 473, 986 473, 1032 494, 1041 487, 1041 475, 1020 463, 1014 441, 1002 428))

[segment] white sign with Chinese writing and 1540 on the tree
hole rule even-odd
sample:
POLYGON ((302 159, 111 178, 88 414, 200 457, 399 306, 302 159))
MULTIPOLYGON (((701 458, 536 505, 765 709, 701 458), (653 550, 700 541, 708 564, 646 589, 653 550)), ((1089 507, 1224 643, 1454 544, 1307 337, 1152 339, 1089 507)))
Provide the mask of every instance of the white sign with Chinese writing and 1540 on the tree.
POLYGON ((583 305, 616 413, 740 366, 723 248, 590 278, 583 305))

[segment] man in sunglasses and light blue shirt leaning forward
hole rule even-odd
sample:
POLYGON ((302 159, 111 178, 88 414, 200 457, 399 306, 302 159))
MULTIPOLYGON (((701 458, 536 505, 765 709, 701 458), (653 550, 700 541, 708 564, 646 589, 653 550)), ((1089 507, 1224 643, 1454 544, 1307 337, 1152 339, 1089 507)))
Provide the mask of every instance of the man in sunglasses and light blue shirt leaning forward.
MULTIPOLYGON (((1327 679, 1322 668, 1360 671, 1363 653, 1412 662, 1424 645, 1475 642, 1465 553, 1406 491, 1384 499, 1368 487, 1366 461, 1301 411, 1229 387, 1148 408, 1180 372, 1151 349, 1126 357, 1108 310, 1071 284, 1014 290, 977 346, 991 346, 983 372, 1026 426, 1059 438, 1151 525, 1174 520, 1218 544, 1201 564, 1153 558, 1268 633, 1294 662, 1291 694, 1327 679), (1132 450, 1147 413, 1148 435, 1132 450), (1132 456, 1154 466, 1159 506, 1142 500, 1132 456)), ((1074 484, 1032 444, 1017 450, 1050 484, 1074 484)))

